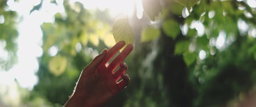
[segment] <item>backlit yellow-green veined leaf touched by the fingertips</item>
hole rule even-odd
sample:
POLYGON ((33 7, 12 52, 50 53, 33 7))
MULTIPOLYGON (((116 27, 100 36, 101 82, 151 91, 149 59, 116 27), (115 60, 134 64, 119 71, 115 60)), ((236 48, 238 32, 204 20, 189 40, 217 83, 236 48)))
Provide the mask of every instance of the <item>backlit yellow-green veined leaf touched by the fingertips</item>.
MULTIPOLYGON (((133 34, 132 28, 128 23, 128 19, 118 19, 113 25, 113 35, 115 42, 125 41, 125 47, 128 44, 133 44, 133 34)), ((125 47, 123 47, 120 51, 122 51, 125 47)))

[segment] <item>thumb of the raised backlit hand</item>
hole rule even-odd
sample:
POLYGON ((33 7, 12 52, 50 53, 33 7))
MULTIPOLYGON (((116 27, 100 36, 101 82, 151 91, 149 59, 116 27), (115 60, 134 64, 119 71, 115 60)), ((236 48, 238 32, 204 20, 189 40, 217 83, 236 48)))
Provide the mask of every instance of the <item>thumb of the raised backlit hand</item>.
POLYGON ((102 51, 102 53, 100 53, 97 57, 95 57, 91 63, 89 63, 88 66, 90 66, 90 68, 92 69, 97 69, 98 66, 105 60, 105 57, 108 54, 108 50, 104 49, 102 51))

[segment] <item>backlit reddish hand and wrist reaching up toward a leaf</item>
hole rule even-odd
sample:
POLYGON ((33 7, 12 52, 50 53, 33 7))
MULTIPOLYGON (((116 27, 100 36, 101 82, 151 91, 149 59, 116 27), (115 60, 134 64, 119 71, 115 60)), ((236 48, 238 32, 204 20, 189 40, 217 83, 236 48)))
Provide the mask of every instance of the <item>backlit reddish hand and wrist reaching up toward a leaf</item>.
POLYGON ((112 48, 104 49, 83 69, 75 91, 65 107, 100 107, 128 85, 130 78, 125 74, 128 67, 123 61, 133 50, 132 44, 128 44, 106 66, 106 63, 124 46, 125 42, 120 41, 112 48), (120 68, 115 71, 118 66, 120 68), (122 80, 117 82, 120 78, 122 80))

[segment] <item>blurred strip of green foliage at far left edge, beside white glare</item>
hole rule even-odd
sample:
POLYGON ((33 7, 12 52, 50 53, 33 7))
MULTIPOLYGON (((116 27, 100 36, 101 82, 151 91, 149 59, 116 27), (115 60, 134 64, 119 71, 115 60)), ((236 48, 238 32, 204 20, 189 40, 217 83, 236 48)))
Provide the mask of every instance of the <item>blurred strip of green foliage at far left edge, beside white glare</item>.
POLYGON ((8 7, 6 3, 7 0, 0 1, 0 70, 12 68, 17 61, 17 14, 15 11, 5 10, 8 7))

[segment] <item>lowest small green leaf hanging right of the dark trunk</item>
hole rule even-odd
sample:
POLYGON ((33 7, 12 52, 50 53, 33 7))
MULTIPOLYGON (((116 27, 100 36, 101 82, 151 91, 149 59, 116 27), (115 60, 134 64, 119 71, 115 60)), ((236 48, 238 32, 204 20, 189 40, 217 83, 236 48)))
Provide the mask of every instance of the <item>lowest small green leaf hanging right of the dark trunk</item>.
POLYGON ((191 64, 193 64, 196 58, 197 58, 197 53, 187 52, 183 54, 183 59, 187 66, 190 66, 191 64))

